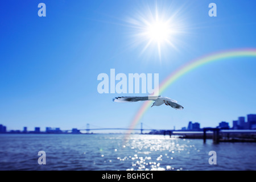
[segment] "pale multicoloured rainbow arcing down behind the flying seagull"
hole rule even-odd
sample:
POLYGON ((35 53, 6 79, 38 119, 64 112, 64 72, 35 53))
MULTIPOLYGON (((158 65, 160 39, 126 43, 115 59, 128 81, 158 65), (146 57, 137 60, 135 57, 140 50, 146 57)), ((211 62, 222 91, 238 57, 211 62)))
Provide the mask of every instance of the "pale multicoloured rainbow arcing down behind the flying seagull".
MULTIPOLYGON (((193 69, 199 68, 205 64, 212 63, 214 61, 226 60, 226 59, 237 58, 237 57, 256 57, 256 48, 232 49, 228 51, 215 52, 215 53, 211 53, 210 55, 206 55, 203 57, 199 57, 198 59, 189 61, 187 64, 184 64, 179 69, 176 69, 176 71, 168 75, 160 83, 159 95, 161 95, 164 92, 164 90, 168 88, 168 86, 170 86, 172 83, 178 80, 181 76, 193 71, 193 69)), ((138 122, 141 120, 144 113, 146 113, 147 109, 150 106, 151 106, 150 101, 146 101, 143 103, 143 105, 135 114, 135 117, 133 118, 133 121, 130 124, 130 127, 129 127, 130 130, 128 130, 129 132, 126 134, 126 137, 125 137, 126 139, 131 133, 131 131, 138 124, 138 122)))

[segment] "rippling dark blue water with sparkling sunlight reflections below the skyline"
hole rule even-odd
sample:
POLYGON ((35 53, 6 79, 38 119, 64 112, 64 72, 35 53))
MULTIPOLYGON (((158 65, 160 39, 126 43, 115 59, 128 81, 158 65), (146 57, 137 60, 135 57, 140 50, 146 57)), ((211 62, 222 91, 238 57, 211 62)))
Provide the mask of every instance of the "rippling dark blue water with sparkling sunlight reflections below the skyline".
POLYGON ((163 135, 1 134, 0 170, 256 170, 256 143, 163 135), (38 152, 46 152, 46 165, 38 152), (209 151, 217 164, 210 165, 209 151))

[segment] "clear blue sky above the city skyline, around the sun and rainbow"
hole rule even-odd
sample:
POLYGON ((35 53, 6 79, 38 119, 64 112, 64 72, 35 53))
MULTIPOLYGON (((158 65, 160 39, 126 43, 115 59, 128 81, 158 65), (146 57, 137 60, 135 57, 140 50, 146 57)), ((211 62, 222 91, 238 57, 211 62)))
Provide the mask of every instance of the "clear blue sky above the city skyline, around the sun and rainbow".
MULTIPOLYGON (((159 82, 181 65, 212 52, 256 48, 255 1, 1 1, 0 123, 7 130, 128 127, 142 102, 119 104, 100 94, 100 73, 159 73, 159 82), (38 4, 46 4, 46 17, 38 4), (209 3, 217 16, 210 17, 209 3), (150 19, 149 10, 178 30, 174 46, 158 47, 138 36, 131 20, 150 19)), ((139 24, 143 27, 143 24, 139 24)), ((210 63, 181 77, 162 96, 184 110, 150 108, 142 122, 152 129, 180 129, 189 121, 232 126, 256 114, 256 59, 210 63)), ((139 127, 139 126, 138 126, 139 127)))

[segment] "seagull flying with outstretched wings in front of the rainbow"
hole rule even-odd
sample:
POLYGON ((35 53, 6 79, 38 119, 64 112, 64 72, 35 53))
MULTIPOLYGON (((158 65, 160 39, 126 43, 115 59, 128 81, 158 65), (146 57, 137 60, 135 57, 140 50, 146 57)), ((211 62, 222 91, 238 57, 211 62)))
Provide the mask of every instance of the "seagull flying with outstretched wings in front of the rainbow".
MULTIPOLYGON (((167 106, 171 106, 174 109, 182 110, 184 107, 177 104, 177 101, 172 100, 168 97, 161 96, 147 96, 147 97, 115 97, 113 98, 114 102, 137 102, 137 101, 155 101, 152 106, 160 106, 165 104, 167 106)), ((151 106, 151 107, 152 107, 151 106)))

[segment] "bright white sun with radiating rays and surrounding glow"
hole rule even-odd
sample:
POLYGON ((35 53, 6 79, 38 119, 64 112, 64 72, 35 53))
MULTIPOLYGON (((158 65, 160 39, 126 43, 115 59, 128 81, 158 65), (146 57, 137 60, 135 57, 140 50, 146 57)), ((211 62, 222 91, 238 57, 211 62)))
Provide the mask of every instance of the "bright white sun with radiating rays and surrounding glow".
MULTIPOLYGON (((134 14, 134 18, 129 18, 128 22, 130 27, 133 28, 133 35, 135 36, 134 44, 144 43, 142 53, 147 51, 148 48, 156 46, 156 53, 158 53, 159 60, 162 58, 163 48, 168 48, 177 51, 177 37, 181 32, 184 32, 182 19, 179 17, 179 10, 165 13, 163 9, 158 10, 155 6, 146 8, 146 13, 138 12, 134 14), (161 12, 159 14, 159 12, 161 12)), ((151 49, 154 52, 154 48, 151 49)), ((170 50, 170 49, 169 49, 170 50)))

